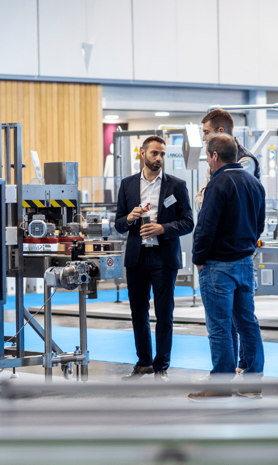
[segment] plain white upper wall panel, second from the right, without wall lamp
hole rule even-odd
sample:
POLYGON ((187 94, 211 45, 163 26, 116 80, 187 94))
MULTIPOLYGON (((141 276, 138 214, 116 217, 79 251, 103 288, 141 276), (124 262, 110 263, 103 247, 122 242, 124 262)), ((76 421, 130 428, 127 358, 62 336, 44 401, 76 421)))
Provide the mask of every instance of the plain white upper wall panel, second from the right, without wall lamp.
POLYGON ((134 0, 135 79, 217 83, 216 0, 134 0))

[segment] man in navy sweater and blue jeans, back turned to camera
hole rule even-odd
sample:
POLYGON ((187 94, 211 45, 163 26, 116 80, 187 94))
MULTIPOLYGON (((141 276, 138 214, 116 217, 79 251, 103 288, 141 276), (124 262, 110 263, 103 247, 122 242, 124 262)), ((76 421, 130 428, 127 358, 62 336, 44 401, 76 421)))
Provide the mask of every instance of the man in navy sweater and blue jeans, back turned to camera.
MULTIPOLYGON (((237 145, 230 135, 212 137, 206 148, 212 171, 195 230, 192 261, 198 268, 213 369, 234 377, 232 316, 240 335, 245 373, 263 371, 263 347, 254 317, 252 253, 263 232, 265 192, 259 181, 236 163, 237 145)), ((244 376, 243 375, 243 376, 244 376)), ((231 392, 224 393, 231 396, 231 392)), ((261 393, 240 395, 260 397, 261 393)), ((209 390, 191 393, 190 400, 220 396, 209 390)), ((223 393, 222 393, 223 395, 223 393)))

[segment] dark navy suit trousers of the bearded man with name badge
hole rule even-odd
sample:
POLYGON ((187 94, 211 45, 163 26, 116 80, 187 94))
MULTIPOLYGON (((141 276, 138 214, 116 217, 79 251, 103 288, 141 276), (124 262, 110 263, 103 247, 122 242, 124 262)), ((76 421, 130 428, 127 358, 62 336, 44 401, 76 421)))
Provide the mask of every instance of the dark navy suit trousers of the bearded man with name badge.
POLYGON ((160 246, 141 246, 136 266, 126 268, 137 365, 153 366, 154 371, 167 370, 170 364, 173 333, 174 287, 177 270, 162 259, 160 246), (156 356, 152 360, 149 322, 151 286, 156 316, 156 356))

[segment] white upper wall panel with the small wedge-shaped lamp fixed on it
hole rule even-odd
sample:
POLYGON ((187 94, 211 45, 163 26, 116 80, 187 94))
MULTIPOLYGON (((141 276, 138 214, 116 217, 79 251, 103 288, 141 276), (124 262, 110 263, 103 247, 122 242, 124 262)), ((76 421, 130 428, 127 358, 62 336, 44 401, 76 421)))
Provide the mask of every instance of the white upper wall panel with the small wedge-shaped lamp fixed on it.
POLYGON ((132 79, 130 0, 40 0, 40 56, 43 76, 132 79))

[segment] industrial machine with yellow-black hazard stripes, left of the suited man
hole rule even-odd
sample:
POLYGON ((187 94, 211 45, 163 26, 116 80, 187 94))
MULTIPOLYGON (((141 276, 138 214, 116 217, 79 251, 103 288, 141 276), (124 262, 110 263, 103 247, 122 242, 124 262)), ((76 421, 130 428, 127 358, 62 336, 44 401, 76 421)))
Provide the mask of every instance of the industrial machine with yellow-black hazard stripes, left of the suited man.
POLYGON ((97 298, 98 280, 122 276, 121 251, 110 250, 115 241, 108 240, 109 220, 99 219, 94 212, 88 212, 86 218, 80 214, 78 164, 46 163, 44 181, 42 176, 37 176, 40 184, 23 185, 21 123, 1 124, 1 129, 5 145, 5 180, 0 182, 1 215, 2 224, 7 227, 2 228, 0 239, 0 370, 43 365, 46 379, 51 380, 52 367, 61 364, 65 378, 70 379, 74 363, 77 377, 81 365, 81 380, 86 381, 89 363, 86 299, 97 298), (11 164, 11 145, 14 164, 11 164), (15 336, 4 335, 6 275, 16 278, 15 336), (44 277, 45 329, 24 306, 24 277, 44 277), (51 297, 57 288, 79 290, 80 346, 71 353, 64 353, 52 340, 51 297), (45 341, 44 353, 25 350, 24 320, 45 341), (12 345, 6 346, 9 342, 12 345))

